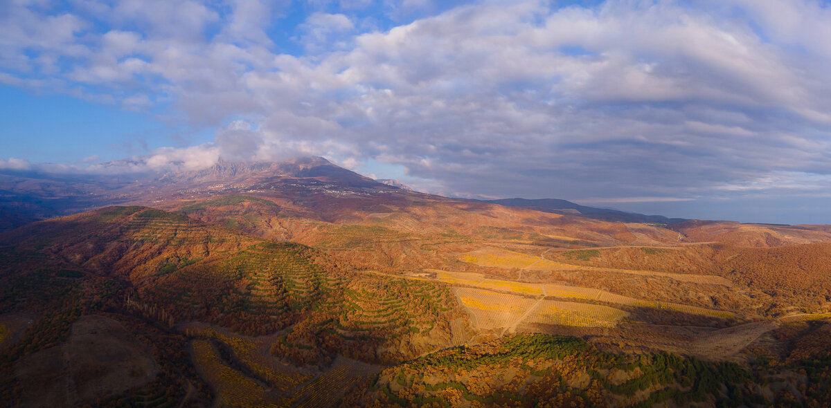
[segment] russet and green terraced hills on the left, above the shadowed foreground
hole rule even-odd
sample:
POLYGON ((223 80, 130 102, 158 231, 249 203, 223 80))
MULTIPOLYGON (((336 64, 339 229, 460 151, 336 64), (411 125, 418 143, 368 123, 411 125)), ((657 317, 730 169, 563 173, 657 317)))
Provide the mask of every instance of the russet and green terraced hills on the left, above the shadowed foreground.
POLYGON ((436 284, 356 276, 306 245, 141 206, 39 221, 0 235, 0 249, 12 261, 0 278, 22 276, 15 257, 46 259, 52 271, 120 282, 120 307, 170 326, 199 321, 248 335, 293 326, 279 352, 303 362, 351 347, 361 359, 403 361, 449 341, 442 322, 458 318, 436 284), (318 342, 327 346, 307 347, 318 342))

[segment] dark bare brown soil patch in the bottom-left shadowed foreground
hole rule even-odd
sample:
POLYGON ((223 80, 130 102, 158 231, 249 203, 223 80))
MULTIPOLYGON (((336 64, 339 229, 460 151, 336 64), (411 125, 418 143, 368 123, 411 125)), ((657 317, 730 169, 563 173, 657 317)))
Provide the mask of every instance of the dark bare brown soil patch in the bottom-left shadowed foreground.
POLYGON ((98 315, 79 318, 64 344, 23 357, 15 369, 27 407, 95 402, 143 386, 159 372, 148 347, 98 315))

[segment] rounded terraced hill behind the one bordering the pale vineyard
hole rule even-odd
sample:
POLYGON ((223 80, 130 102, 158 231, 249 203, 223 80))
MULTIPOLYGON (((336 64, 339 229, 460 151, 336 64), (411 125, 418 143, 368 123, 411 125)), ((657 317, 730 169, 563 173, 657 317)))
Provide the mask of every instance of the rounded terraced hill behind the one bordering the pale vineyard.
POLYGON ((224 260, 197 262, 136 293, 165 304, 175 320, 203 320, 239 333, 268 334, 293 322, 340 284, 313 261, 314 250, 263 242, 224 260))

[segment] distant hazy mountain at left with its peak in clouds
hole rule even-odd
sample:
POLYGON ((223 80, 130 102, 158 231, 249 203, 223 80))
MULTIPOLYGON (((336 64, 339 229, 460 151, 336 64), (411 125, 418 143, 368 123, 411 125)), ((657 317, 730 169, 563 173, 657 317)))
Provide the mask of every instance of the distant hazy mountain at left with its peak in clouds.
MULTIPOLYGON (((114 165, 115 166, 115 165, 114 165)), ((325 158, 298 158, 283 163, 220 161, 197 171, 116 174, 0 172, 0 231, 27 222, 64 216, 102 206, 152 204, 181 197, 270 190, 390 191, 371 178, 340 168, 325 158)))

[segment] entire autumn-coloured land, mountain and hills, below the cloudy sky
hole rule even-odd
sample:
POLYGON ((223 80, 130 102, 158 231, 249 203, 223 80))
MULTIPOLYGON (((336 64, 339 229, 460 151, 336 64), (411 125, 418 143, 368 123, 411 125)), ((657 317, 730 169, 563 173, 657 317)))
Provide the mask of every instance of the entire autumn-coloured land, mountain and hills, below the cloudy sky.
POLYGON ((322 158, 0 182, 25 223, 0 233, 7 406, 831 402, 831 226, 475 202, 322 158))

